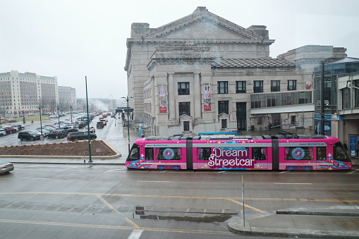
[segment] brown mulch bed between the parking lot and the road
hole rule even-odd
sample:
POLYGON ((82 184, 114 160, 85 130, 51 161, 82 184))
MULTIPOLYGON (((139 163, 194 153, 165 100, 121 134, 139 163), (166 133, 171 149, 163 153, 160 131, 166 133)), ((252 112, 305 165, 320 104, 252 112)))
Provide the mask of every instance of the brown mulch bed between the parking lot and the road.
MULTIPOLYGON (((83 156, 88 153, 87 141, 0 147, 0 155, 83 156)), ((95 140, 91 141, 91 155, 112 156, 116 155, 116 152, 102 140, 95 140)))

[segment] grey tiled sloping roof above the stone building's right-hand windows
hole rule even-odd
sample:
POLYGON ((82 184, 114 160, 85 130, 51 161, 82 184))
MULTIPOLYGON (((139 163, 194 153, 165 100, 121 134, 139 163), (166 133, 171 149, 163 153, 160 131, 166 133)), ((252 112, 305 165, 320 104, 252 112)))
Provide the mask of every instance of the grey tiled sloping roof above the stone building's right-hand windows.
POLYGON ((296 68, 296 64, 284 59, 217 59, 212 68, 296 68))

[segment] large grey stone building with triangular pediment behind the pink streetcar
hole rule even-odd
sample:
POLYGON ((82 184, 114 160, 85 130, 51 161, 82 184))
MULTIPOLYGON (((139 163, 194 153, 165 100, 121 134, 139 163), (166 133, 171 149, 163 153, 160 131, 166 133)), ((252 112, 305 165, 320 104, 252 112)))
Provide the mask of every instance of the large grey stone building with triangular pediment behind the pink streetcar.
POLYGON ((135 123, 152 135, 313 125, 312 70, 290 54, 270 58, 273 43, 266 26, 205 7, 158 28, 133 23, 125 71, 135 123))

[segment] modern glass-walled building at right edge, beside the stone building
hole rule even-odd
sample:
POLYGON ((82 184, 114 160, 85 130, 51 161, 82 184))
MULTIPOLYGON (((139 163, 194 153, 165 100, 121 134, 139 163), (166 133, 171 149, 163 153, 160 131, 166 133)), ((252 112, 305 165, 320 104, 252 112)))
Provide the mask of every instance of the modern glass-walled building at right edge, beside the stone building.
MULTIPOLYGON (((348 142, 353 153, 359 141, 359 59, 345 57, 315 67, 315 128, 320 132, 320 99, 324 97, 324 133, 348 142)), ((353 155, 352 155, 353 156, 353 155)))

